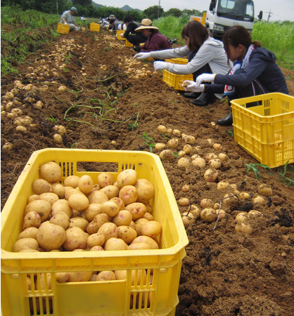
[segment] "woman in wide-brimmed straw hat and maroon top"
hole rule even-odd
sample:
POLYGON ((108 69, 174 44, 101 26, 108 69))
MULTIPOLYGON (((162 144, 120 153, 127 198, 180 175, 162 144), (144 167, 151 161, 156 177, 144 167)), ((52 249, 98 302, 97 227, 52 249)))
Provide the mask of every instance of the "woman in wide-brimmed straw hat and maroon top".
POLYGON ((149 19, 143 19, 141 26, 135 29, 136 32, 142 32, 147 41, 143 46, 134 47, 135 51, 162 51, 163 49, 172 48, 170 41, 164 35, 160 34, 158 27, 152 25, 149 19))

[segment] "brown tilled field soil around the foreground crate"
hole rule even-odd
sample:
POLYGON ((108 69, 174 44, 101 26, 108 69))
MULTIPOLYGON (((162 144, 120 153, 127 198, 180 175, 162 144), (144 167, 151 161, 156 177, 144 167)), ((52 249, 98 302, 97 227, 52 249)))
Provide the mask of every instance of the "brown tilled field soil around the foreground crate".
MULTIPOLYGON (((217 182, 228 180, 236 184, 237 190, 254 197, 259 185, 265 183, 273 195, 265 198, 264 205, 253 205, 250 199, 224 206, 226 218, 216 227, 215 222, 200 219, 186 225, 189 244, 182 264, 176 315, 293 315, 293 188, 281 182, 279 168, 260 169, 262 178, 255 178, 252 171, 245 173, 245 164, 257 161, 235 143, 228 133, 231 127, 211 124, 229 112, 226 103, 217 100, 207 107, 191 105, 190 100, 162 81, 161 73, 153 73, 151 62, 133 62, 132 55, 132 48, 126 48, 124 41, 112 34, 84 30, 58 37, 18 65, 18 75, 2 77, 2 96, 13 89, 16 79, 36 88, 14 92, 22 105, 13 107, 20 107, 23 115, 33 119, 27 131, 15 131, 13 119, 1 112, 1 146, 13 144, 9 152, 1 150, 1 208, 34 150, 74 147, 149 151, 144 135, 155 143, 167 143, 168 138, 158 133, 160 124, 196 137, 200 149, 193 149, 190 156, 217 154, 207 141, 211 139, 220 143, 221 151, 229 156, 219 169, 217 182), (65 58, 58 60, 54 52, 64 53, 65 58), (141 70, 144 63, 151 74, 139 79, 130 75, 141 70), (127 67, 132 68, 129 74, 127 67), (58 91, 60 85, 67 86, 67 91, 58 91), (35 102, 27 97, 41 100, 44 107, 34 108, 35 102), (67 129, 62 144, 53 140, 56 124, 67 129), (133 124, 134 131, 129 124, 133 124), (250 209, 262 213, 251 223, 253 233, 236 232, 236 214, 250 209)), ((292 74, 283 72, 286 76, 292 74)), ((293 81, 287 83, 293 96, 293 81)), ((2 98, 1 105, 7 103, 2 98)), ((179 149, 182 145, 180 138, 179 149)), ((162 162, 177 200, 187 197, 198 207, 203 198, 221 201, 225 192, 217 190, 217 183, 205 182, 204 170, 179 169, 177 160, 162 162), (184 184, 190 185, 188 192, 181 190, 184 184)), ((187 209, 179 206, 181 213, 187 209)))

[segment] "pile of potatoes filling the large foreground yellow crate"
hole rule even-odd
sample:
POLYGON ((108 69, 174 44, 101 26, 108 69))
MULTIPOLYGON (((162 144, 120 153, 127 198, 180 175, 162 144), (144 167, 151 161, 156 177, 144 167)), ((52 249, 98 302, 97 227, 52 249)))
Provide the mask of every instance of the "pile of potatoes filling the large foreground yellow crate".
MULTIPOLYGON (((153 219, 148 203, 154 187, 126 169, 117 175, 100 173, 97 183, 88 175, 68 176, 46 162, 27 198, 23 231, 13 244, 15 252, 107 251, 158 249, 162 225, 153 219)), ((101 272, 57 274, 59 282, 98 280, 101 272)), ((103 272, 113 279, 119 272, 103 272)), ((115 277, 117 279, 117 277, 115 277)))

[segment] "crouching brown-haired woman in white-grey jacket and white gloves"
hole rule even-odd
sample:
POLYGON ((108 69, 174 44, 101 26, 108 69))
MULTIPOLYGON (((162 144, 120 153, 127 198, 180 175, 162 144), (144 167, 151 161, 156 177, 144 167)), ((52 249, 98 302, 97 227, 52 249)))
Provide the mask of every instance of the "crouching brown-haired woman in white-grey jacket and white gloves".
MULTIPOLYGON (((207 29, 198 21, 188 22, 181 31, 181 38, 185 40, 185 46, 180 48, 165 49, 163 51, 151 51, 137 53, 136 59, 154 58, 165 60, 166 58, 183 58, 188 56, 186 65, 173 64, 172 62, 155 61, 155 70, 167 70, 173 74, 193 74, 196 80, 203 73, 226 74, 231 69, 222 41, 209 37, 207 29)), ((213 103, 215 96, 208 93, 184 93, 188 98, 197 98, 192 103, 205 106, 213 103)), ((220 95, 217 97, 221 98, 220 95)))

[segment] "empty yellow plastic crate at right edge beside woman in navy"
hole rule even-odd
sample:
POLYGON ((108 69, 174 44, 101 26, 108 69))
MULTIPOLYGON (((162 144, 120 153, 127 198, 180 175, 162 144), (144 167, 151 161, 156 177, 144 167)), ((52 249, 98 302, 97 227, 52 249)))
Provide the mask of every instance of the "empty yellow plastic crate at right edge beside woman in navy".
POLYGON ((294 162, 293 96, 267 93, 241 98, 232 100, 231 108, 235 141, 246 152, 270 168, 294 162))

